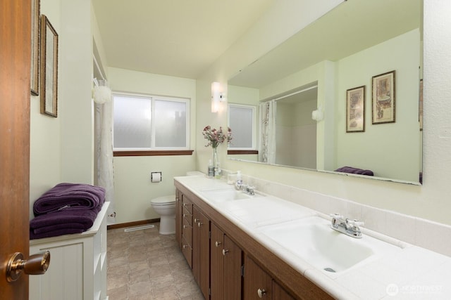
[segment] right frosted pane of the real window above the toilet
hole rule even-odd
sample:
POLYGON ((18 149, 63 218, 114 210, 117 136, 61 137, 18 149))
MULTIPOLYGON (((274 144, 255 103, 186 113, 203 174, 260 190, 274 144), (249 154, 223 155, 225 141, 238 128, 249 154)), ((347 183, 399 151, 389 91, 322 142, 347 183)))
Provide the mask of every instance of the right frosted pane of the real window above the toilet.
POLYGON ((186 103, 168 100, 155 100, 154 109, 155 147, 186 147, 186 103))

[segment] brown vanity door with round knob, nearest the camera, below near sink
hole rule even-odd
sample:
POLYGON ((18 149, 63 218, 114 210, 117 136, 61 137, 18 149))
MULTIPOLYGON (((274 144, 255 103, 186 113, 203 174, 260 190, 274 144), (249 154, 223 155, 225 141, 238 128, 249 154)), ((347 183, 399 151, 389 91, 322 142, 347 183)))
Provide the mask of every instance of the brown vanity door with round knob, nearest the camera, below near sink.
POLYGON ((245 256, 244 299, 272 299, 271 277, 245 256))

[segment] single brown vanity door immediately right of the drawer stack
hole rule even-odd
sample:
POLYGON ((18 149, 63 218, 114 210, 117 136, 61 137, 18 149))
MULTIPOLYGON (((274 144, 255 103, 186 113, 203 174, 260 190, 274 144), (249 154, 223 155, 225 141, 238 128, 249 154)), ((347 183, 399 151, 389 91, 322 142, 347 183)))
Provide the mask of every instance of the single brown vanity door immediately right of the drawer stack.
POLYGON ((210 220, 193 207, 192 273, 205 299, 210 287, 210 220))

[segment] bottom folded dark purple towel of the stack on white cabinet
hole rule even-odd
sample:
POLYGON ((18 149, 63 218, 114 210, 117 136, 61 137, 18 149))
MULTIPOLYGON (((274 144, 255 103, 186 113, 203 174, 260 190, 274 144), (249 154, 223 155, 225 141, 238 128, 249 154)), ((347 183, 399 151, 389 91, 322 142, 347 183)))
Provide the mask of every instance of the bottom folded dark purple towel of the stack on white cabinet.
POLYGON ((66 209, 36 216, 30 221, 30 240, 82 233, 92 227, 100 209, 66 209))

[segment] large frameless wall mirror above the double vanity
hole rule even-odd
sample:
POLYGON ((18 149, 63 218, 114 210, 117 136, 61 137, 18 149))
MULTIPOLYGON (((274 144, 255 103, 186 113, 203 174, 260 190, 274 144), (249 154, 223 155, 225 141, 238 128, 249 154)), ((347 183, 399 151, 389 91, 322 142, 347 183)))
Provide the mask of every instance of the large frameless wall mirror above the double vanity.
POLYGON ((421 183, 422 21, 422 0, 347 0, 237 71, 258 154, 228 158, 421 183))

